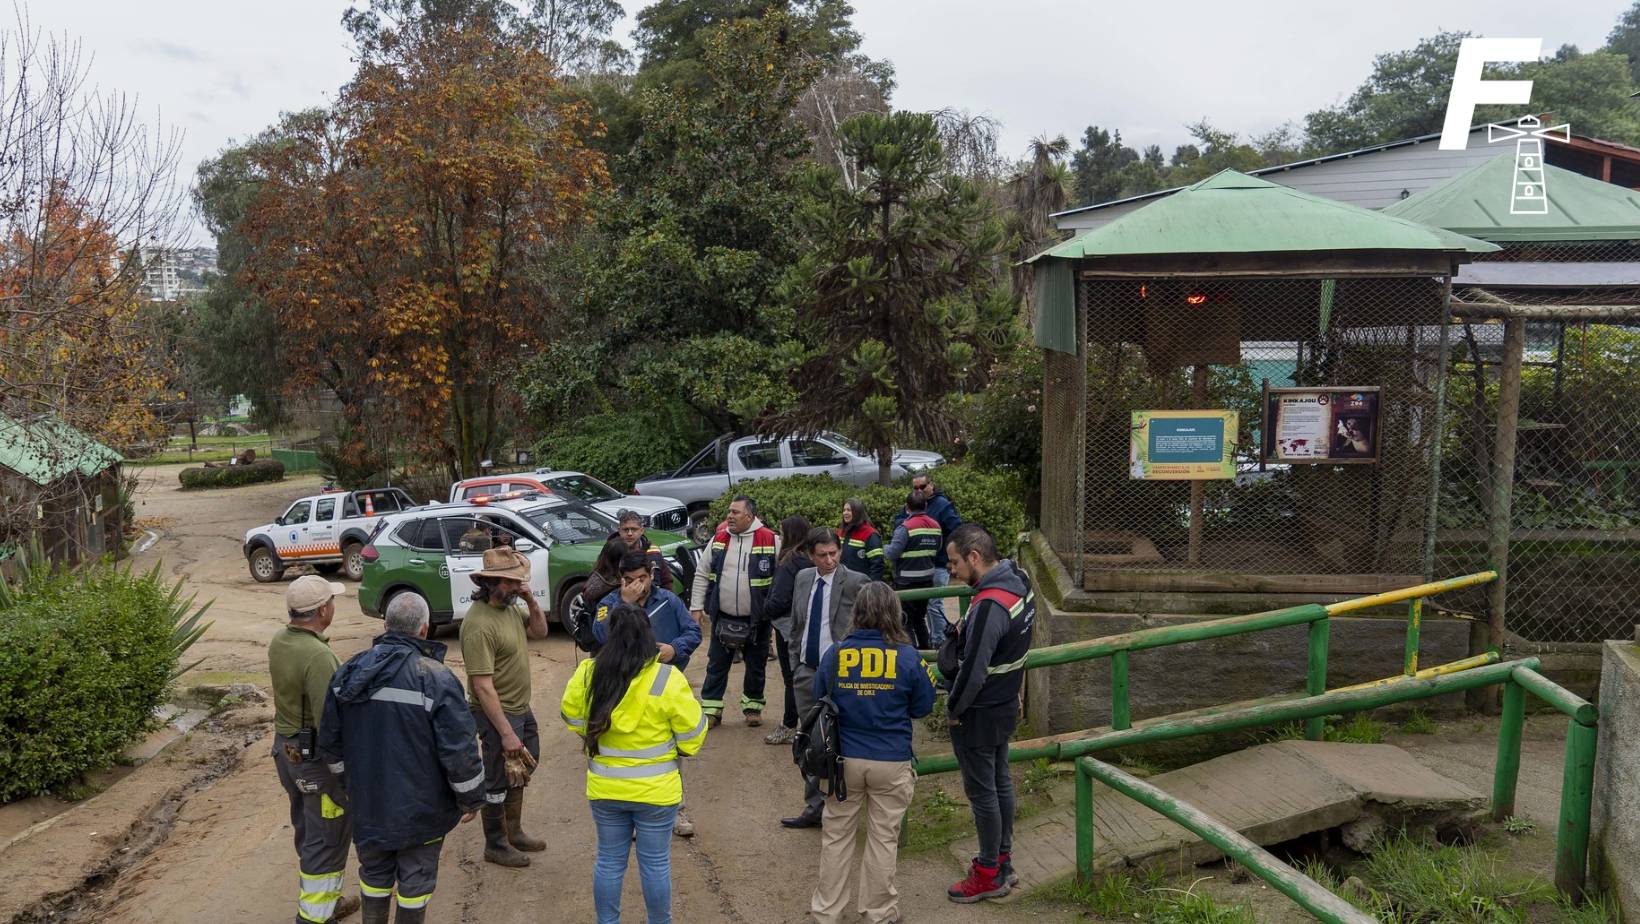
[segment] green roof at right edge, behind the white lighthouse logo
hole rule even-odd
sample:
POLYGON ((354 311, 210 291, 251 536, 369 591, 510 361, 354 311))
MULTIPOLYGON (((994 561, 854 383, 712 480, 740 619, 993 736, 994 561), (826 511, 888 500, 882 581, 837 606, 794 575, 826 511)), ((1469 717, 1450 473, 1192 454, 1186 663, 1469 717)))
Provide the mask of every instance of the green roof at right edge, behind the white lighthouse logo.
POLYGON ((1487 241, 1609 241, 1640 238, 1640 192, 1545 167, 1547 215, 1510 215, 1510 153, 1384 208, 1386 215, 1487 241))

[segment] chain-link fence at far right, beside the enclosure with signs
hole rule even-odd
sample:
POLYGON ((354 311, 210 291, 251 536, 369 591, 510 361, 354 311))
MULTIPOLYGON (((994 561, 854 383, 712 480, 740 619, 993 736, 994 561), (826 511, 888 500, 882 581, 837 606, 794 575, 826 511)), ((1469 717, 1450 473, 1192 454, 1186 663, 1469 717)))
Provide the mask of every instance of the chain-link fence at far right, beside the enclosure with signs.
MULTIPOLYGON (((1460 284, 1437 569, 1489 563, 1504 315, 1524 317, 1509 524, 1510 640, 1594 643, 1640 622, 1640 241, 1510 245, 1460 284), (1514 266, 1507 266, 1514 264, 1514 266), (1625 266, 1627 264, 1627 266, 1625 266)), ((1484 594, 1456 606, 1484 611, 1484 594)))

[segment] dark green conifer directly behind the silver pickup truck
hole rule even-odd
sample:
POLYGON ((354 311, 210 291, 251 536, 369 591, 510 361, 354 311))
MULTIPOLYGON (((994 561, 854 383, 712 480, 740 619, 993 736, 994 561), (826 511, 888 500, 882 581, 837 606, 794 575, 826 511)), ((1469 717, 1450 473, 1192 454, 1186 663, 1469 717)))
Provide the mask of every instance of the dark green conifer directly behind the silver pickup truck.
POLYGON ((933 117, 866 113, 843 126, 859 189, 810 171, 805 254, 786 294, 812 348, 779 428, 845 427, 877 456, 889 484, 902 433, 950 440, 948 399, 984 382, 1018 338, 1014 300, 995 276, 1002 223, 981 190, 950 176, 933 117))

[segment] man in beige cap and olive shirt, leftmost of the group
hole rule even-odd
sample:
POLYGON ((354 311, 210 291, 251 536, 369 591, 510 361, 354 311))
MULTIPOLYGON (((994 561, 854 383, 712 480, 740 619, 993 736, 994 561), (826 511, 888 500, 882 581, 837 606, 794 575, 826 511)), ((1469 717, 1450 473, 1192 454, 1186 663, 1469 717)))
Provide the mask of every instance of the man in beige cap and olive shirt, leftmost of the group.
POLYGON ((267 673, 274 684, 274 766, 290 798, 295 829, 297 924, 325 924, 353 914, 358 896, 341 898, 353 819, 341 780, 318 758, 318 719, 325 712, 330 676, 341 661, 323 632, 336 615, 343 586, 317 574, 285 588, 290 624, 267 643, 267 673))

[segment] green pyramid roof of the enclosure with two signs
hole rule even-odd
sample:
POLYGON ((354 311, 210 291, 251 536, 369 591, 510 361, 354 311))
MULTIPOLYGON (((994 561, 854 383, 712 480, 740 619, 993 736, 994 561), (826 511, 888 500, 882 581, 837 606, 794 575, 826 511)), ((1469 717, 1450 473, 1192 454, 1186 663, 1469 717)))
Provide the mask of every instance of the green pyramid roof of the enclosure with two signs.
POLYGON ((1032 259, 1356 249, 1491 253, 1499 248, 1238 171, 1219 171, 1032 259))

